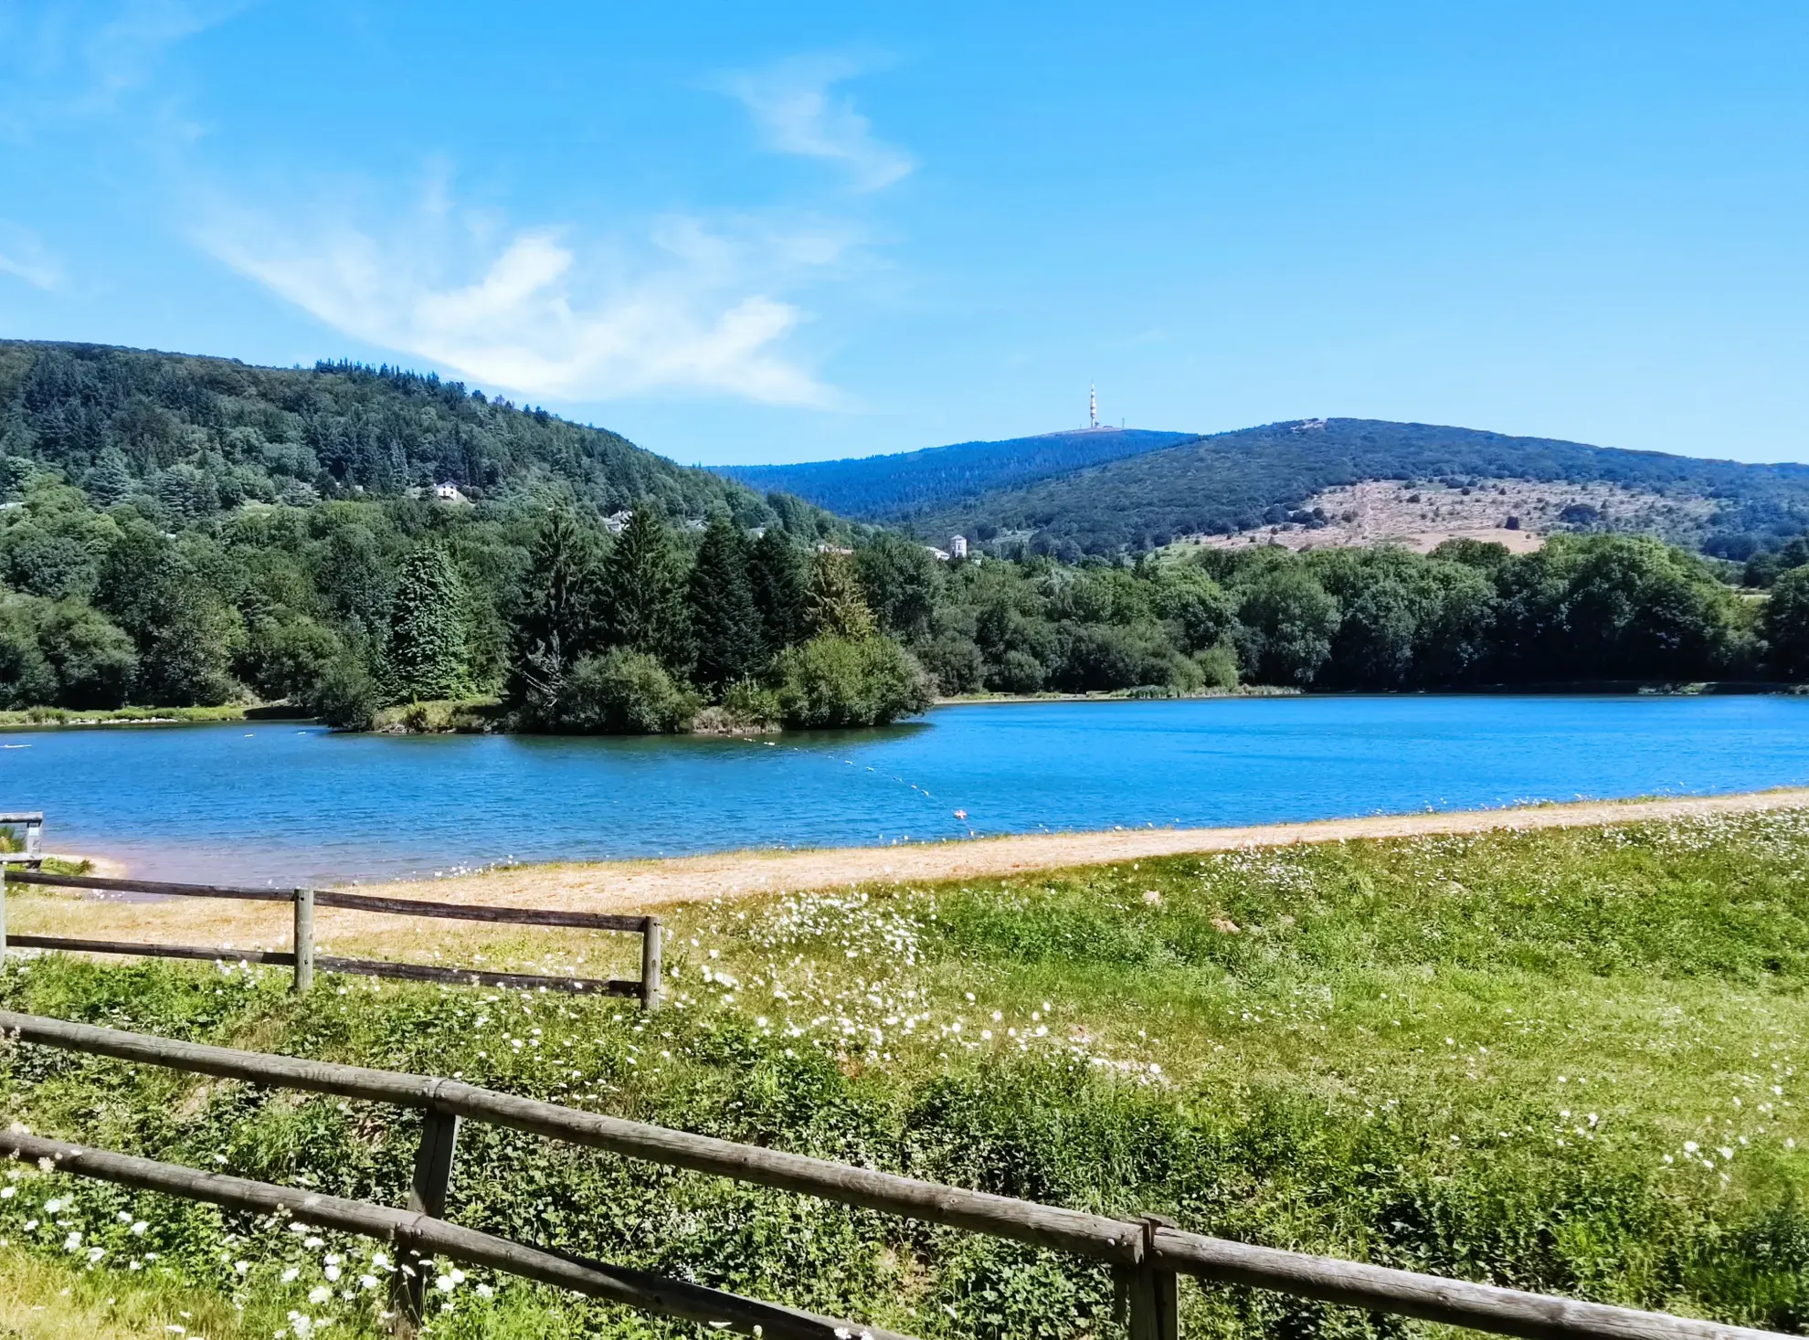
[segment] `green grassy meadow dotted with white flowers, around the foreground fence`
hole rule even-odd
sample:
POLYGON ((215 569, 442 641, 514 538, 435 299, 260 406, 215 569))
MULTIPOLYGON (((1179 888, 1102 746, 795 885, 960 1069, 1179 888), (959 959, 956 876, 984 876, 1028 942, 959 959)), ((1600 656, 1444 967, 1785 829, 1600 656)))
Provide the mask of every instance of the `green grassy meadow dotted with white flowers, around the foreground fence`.
MULTIPOLYGON (((1143 861, 668 922, 673 1007, 653 1020, 335 978, 298 1004, 280 973, 51 957, 13 964, 0 995, 1274 1246, 1809 1320, 1805 814, 1143 861)), ((595 937, 485 955, 550 944, 597 967, 595 937)), ((33 1047, 5 1058, 0 1101, 34 1130, 391 1204, 418 1130, 412 1114, 33 1047)), ((308 1246, 36 1172, 11 1184, 14 1248, 67 1259, 83 1231, 98 1275, 235 1300, 246 1335, 293 1333, 291 1311, 382 1326, 384 1289, 356 1286, 382 1277, 371 1244, 308 1246), (69 1224, 43 1212, 62 1197, 69 1224), (309 1304, 326 1253, 342 1279, 309 1304)), ((1113 1333, 1107 1273, 1071 1259, 485 1127, 461 1136, 450 1213, 923 1336, 1113 1333)), ((434 1297, 449 1336, 695 1333, 481 1271, 434 1297)), ((1422 1329, 1190 1284, 1183 1324, 1422 1329)))

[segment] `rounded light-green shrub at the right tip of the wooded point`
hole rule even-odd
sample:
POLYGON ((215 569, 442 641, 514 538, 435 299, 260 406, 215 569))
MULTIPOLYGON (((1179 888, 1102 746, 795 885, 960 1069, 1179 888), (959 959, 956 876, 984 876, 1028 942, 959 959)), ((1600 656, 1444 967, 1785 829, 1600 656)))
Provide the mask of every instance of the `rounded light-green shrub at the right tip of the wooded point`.
POLYGON ((776 678, 780 718, 791 727, 886 725, 933 702, 915 656, 879 635, 818 633, 780 656, 776 678))

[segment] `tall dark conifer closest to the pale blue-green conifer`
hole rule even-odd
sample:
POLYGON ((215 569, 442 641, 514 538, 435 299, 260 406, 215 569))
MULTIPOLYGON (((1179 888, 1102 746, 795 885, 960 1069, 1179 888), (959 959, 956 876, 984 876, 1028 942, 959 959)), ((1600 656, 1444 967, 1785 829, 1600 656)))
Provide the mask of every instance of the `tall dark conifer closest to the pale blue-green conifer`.
POLYGON ((514 626, 510 696, 552 702, 564 675, 599 642, 595 548, 568 508, 554 508, 528 550, 514 626))

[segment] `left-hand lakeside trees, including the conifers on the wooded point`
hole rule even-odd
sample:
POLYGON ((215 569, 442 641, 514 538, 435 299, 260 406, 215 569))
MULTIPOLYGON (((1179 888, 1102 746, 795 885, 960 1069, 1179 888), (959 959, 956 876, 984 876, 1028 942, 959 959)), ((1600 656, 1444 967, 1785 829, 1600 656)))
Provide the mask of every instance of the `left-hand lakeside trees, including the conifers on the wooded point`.
POLYGON ((335 723, 503 694, 521 729, 856 725, 932 684, 816 532, 570 494, 241 506, 181 532, 52 472, 0 510, 0 705, 289 700, 335 723), (620 517, 620 514, 615 514, 620 517))

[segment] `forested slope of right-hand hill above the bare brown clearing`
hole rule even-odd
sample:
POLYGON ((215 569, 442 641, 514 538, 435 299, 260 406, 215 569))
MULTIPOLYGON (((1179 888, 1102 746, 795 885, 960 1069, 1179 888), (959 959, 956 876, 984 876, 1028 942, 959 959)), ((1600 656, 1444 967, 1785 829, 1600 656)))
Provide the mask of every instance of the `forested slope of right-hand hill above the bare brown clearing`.
POLYGON ((1290 508, 1337 485, 1453 476, 1601 481, 1713 499, 1704 550, 1737 559, 1809 524, 1805 465, 1740 465, 1380 420, 1306 420, 1196 438, 917 508, 910 524, 924 537, 1004 532, 1060 552, 1138 552, 1176 535, 1281 523, 1290 508))

